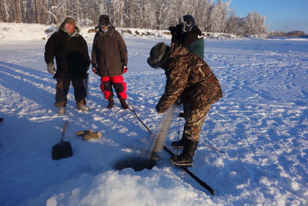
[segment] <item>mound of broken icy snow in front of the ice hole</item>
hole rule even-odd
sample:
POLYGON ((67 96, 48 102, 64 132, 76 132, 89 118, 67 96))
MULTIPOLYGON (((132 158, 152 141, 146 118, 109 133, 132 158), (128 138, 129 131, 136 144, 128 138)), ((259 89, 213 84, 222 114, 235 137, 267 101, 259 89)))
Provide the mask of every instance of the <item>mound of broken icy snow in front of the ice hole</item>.
POLYGON ((154 167, 140 172, 129 168, 96 176, 82 174, 47 189, 27 205, 183 205, 187 201, 213 204, 205 193, 198 194, 168 168, 154 167))

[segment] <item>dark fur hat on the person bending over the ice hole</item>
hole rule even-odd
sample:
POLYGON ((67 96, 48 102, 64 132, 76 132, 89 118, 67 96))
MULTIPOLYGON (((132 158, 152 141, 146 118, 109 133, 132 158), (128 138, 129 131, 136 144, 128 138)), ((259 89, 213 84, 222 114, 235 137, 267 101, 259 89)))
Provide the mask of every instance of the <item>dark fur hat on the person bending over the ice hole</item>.
POLYGON ((148 65, 152 68, 157 69, 160 67, 161 60, 168 53, 170 47, 164 42, 159 42, 152 47, 150 51, 150 57, 148 57, 148 65))

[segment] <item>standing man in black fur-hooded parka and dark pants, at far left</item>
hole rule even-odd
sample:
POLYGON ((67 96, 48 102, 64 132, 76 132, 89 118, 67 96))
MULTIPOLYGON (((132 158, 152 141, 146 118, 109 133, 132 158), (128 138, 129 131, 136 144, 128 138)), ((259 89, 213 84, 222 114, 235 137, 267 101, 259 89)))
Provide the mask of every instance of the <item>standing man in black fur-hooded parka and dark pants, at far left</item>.
POLYGON ((65 113, 67 94, 72 82, 74 97, 78 110, 89 111, 86 106, 86 90, 83 80, 87 78, 90 65, 87 42, 79 34, 80 28, 76 27, 76 21, 67 17, 60 25, 59 30, 48 39, 45 45, 45 61, 47 71, 54 74, 57 79, 55 106, 58 114, 65 113), (54 66, 56 59, 57 70, 54 66), (54 73, 56 71, 56 73, 54 73))

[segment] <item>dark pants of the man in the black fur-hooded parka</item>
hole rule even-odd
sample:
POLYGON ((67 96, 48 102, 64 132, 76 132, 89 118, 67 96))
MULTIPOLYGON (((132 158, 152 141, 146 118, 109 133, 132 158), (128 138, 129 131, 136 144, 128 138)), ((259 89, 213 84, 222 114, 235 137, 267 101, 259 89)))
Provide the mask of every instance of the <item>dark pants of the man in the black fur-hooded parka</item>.
POLYGON ((71 82, 74 88, 74 97, 77 108, 86 105, 86 88, 83 84, 83 78, 77 78, 77 79, 63 78, 63 79, 57 79, 56 96, 55 96, 56 107, 59 108, 66 106, 68 89, 70 88, 71 82))

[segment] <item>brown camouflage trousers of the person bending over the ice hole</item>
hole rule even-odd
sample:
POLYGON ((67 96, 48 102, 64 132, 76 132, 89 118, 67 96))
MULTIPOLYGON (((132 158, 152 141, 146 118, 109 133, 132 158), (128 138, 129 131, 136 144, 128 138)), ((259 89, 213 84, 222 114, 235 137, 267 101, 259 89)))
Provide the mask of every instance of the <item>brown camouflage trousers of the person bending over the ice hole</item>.
POLYGON ((184 125, 184 137, 198 142, 201 132, 201 126, 205 120, 207 113, 209 112, 211 105, 208 105, 204 109, 201 110, 191 110, 189 108, 184 107, 185 114, 185 125, 184 125))

